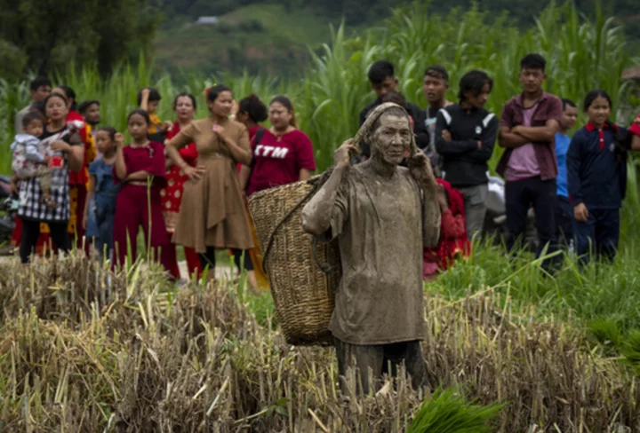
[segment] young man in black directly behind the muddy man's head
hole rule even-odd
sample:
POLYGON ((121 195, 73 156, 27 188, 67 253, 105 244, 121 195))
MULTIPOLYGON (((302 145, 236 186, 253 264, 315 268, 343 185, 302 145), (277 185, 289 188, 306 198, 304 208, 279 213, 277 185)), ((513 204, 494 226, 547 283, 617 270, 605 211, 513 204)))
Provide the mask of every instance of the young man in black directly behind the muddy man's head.
MULTIPOLYGON (((376 95, 378 95, 378 98, 368 106, 365 106, 364 110, 360 112, 361 126, 364 123, 367 114, 369 114, 373 108, 382 104, 382 97, 390 91, 397 91, 396 89, 398 86, 398 79, 396 78, 394 66, 388 60, 378 60, 373 63, 372 67, 369 68, 368 77, 369 82, 372 84, 372 89, 375 91, 376 95)), ((407 102, 404 108, 413 119, 413 134, 416 138, 416 145, 420 147, 420 149, 428 146, 429 137, 428 130, 424 122, 424 111, 420 110, 418 106, 411 102, 407 102)), ((360 146, 362 148, 361 153, 363 160, 368 159, 369 156, 371 156, 371 148, 364 142, 362 142, 360 146)))

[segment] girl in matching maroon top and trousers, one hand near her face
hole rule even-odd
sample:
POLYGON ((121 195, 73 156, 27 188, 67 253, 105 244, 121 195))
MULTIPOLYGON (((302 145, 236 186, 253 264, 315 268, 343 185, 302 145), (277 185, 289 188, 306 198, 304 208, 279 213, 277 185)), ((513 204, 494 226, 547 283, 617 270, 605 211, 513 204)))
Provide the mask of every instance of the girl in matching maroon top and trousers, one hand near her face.
POLYGON ((164 146, 162 143, 149 142, 149 122, 146 111, 133 110, 127 119, 133 143, 124 147, 124 136, 116 134, 114 174, 116 182, 124 185, 116 199, 114 266, 124 266, 128 248, 131 248, 132 260, 136 260, 136 241, 138 230, 142 226, 146 244, 152 248, 153 258, 160 260, 164 269, 171 271, 166 254, 161 256, 158 251, 159 248, 164 250, 169 244, 160 199, 160 189, 166 186, 164 146), (149 235, 151 239, 148 239, 149 235))

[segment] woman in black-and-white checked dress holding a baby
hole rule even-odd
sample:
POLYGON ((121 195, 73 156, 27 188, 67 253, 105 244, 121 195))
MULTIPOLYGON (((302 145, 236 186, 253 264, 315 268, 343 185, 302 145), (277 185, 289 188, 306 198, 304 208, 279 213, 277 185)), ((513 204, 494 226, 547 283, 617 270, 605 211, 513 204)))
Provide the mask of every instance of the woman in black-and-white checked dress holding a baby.
POLYGON ((20 260, 27 264, 36 248, 40 234, 40 223, 49 225, 51 237, 62 252, 68 252, 70 242, 67 225, 70 216, 69 169, 79 172, 84 165, 84 143, 73 124, 68 124, 68 99, 60 93, 52 93, 44 101, 49 123, 44 133, 39 152, 48 158, 51 169, 51 199, 43 200, 43 191, 37 177, 20 182, 20 209, 22 240, 20 260))

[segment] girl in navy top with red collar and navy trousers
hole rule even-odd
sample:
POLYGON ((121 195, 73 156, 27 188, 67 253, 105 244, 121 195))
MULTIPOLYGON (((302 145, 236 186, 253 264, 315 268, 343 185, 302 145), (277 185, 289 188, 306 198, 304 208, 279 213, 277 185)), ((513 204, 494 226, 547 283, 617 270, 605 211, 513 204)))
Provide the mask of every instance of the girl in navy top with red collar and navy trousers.
POLYGON ((573 135, 567 171, 577 250, 586 264, 591 257, 608 261, 615 258, 631 136, 609 121, 612 102, 605 91, 588 92, 584 111, 588 123, 573 135))

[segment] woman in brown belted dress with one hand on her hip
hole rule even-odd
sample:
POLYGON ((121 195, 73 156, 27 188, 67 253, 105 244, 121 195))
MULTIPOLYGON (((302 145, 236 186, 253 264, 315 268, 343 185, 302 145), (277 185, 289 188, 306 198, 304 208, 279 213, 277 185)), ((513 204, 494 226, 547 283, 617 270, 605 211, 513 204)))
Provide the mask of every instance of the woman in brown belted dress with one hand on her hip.
POLYGON ((249 220, 244 209, 236 164, 251 165, 249 134, 242 123, 228 118, 233 93, 224 85, 207 91, 211 115, 191 122, 172 138, 167 155, 189 180, 184 186, 182 205, 173 242, 196 248, 203 268, 213 276, 215 250, 253 248, 249 220), (179 150, 195 143, 197 166, 191 167, 179 150))

